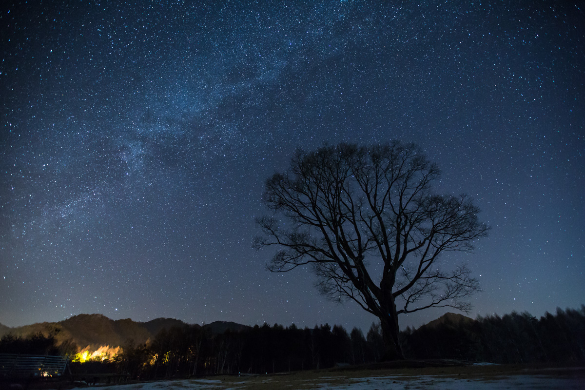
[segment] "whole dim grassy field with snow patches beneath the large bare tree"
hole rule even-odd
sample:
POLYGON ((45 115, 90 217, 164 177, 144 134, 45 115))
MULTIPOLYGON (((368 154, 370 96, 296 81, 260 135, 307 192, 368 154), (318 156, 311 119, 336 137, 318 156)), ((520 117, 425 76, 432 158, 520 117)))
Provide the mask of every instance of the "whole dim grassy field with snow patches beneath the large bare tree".
POLYGON ((252 376, 215 376, 103 386, 101 390, 463 390, 585 389, 585 367, 462 365, 407 361, 252 376))

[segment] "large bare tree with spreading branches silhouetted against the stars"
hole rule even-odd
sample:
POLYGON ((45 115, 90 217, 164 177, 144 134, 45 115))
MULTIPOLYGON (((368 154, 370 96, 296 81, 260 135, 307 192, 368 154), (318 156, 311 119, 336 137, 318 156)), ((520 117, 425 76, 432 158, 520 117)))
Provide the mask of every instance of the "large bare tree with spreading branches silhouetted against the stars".
POLYGON ((470 250, 488 230, 466 195, 432 193, 438 176, 417 146, 399 141, 299 150, 266 181, 263 201, 275 217, 257 220, 263 235, 254 246, 278 247, 270 271, 312 264, 322 294, 377 316, 385 358, 403 358, 399 314, 468 311, 464 298, 479 289, 465 265, 438 267, 443 252, 470 250))

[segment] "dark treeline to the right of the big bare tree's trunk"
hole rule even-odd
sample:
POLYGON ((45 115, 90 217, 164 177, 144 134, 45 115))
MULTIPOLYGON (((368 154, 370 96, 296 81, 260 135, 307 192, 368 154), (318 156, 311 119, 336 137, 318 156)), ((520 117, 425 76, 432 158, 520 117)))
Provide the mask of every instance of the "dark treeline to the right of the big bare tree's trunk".
POLYGON ((422 326, 401 332, 411 358, 490 363, 585 361, 585 306, 557 309, 541 319, 527 312, 422 326))

